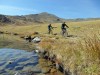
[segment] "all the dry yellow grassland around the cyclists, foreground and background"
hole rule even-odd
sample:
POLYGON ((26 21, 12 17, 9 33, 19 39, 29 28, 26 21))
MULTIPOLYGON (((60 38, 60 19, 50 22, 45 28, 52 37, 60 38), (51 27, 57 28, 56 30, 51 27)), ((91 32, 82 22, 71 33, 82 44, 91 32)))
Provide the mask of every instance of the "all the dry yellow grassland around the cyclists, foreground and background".
MULTIPOLYGON (((35 24, 27 26, 1 26, 0 31, 33 35, 39 32, 42 38, 39 46, 48 50, 50 54, 57 55, 66 70, 75 75, 99 75, 100 74, 100 20, 68 22, 70 37, 61 36, 61 23, 52 24, 57 27, 53 30, 58 35, 48 35, 48 24, 35 24)), ((33 35, 35 36, 35 35, 33 35)), ((0 36, 0 47, 34 49, 33 44, 27 44, 19 36, 0 36), (18 45, 19 44, 19 45, 18 45)))

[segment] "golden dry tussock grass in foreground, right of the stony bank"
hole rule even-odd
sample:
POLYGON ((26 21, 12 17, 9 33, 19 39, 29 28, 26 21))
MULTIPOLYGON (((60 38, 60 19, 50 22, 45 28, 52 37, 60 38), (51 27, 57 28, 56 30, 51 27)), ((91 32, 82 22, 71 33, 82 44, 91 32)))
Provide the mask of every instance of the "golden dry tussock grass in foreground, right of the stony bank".
POLYGON ((40 44, 50 54, 56 54, 66 70, 78 75, 100 74, 100 40, 92 36, 78 40, 43 40, 40 44))

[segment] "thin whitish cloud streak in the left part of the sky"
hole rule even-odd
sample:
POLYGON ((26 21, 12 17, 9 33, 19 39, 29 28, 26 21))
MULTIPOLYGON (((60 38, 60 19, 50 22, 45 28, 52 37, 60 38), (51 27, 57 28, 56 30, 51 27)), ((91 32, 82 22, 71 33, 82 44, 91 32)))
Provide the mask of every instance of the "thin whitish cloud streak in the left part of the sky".
POLYGON ((16 10, 16 11, 38 12, 38 10, 36 10, 36 9, 20 8, 20 7, 7 6, 7 5, 0 5, 0 10, 16 10))

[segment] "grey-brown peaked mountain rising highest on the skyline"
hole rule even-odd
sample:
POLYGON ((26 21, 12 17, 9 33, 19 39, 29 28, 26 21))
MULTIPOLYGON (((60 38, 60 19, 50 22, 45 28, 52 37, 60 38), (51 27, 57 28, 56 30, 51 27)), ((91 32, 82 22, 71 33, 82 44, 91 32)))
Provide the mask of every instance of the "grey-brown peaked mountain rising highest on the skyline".
POLYGON ((62 22, 63 19, 53 15, 53 14, 49 14, 49 13, 40 13, 40 14, 31 14, 31 15, 26 15, 25 16, 27 19, 30 19, 34 22, 39 22, 39 23, 45 23, 45 22, 49 22, 49 23, 54 23, 54 22, 62 22))

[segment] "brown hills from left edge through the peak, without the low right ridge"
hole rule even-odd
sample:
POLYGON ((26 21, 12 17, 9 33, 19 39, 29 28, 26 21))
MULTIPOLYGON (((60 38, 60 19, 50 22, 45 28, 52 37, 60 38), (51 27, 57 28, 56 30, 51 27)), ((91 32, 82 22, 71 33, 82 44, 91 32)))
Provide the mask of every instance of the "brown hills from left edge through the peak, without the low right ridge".
POLYGON ((1 23, 10 23, 10 24, 29 24, 29 23, 59 23, 63 22, 64 19, 59 18, 53 14, 46 12, 40 14, 30 14, 30 15, 21 15, 21 16, 10 16, 10 15, 0 15, 1 23))

